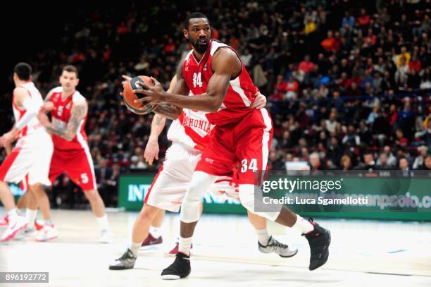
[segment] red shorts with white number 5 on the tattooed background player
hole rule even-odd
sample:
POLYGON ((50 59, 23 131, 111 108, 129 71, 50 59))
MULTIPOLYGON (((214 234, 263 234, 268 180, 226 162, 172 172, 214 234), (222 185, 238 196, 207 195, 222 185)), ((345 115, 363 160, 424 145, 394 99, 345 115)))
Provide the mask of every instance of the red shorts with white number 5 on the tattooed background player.
POLYGON ((88 149, 54 149, 49 168, 49 180, 54 183, 63 172, 82 190, 97 189, 93 160, 88 149))

